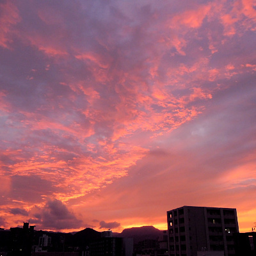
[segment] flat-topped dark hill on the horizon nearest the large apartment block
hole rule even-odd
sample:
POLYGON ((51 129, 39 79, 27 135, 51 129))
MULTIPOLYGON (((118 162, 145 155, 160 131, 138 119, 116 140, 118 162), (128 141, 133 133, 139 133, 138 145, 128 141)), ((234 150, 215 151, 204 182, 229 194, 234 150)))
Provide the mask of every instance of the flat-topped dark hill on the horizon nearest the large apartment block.
POLYGON ((143 226, 136 228, 125 228, 121 233, 113 233, 115 237, 133 237, 134 244, 146 239, 157 240, 163 236, 163 231, 153 226, 143 226))

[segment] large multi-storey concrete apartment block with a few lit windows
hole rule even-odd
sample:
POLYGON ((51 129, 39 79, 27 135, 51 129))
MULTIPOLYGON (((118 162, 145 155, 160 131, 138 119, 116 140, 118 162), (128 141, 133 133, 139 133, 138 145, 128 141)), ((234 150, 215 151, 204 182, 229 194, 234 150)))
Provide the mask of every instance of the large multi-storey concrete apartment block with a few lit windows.
POLYGON ((170 256, 235 255, 236 209, 183 206, 168 211, 167 222, 170 256))

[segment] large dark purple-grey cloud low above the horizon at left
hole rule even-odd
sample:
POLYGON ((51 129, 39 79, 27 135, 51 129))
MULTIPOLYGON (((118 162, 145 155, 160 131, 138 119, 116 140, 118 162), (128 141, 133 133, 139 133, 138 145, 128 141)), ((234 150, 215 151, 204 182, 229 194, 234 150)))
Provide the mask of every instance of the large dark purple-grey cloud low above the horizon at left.
POLYGON ((44 207, 34 207, 35 212, 31 218, 31 223, 38 223, 40 227, 53 230, 63 230, 68 228, 80 228, 83 221, 76 218, 74 213, 68 210, 67 206, 60 200, 49 200, 44 207))

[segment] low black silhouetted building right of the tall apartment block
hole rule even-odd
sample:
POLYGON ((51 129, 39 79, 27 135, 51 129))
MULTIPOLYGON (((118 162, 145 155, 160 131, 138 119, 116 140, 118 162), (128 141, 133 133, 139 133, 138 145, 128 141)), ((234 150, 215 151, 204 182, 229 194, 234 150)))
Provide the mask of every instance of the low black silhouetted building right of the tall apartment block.
POLYGON ((256 255, 256 233, 237 233, 234 234, 236 256, 255 256, 256 255))

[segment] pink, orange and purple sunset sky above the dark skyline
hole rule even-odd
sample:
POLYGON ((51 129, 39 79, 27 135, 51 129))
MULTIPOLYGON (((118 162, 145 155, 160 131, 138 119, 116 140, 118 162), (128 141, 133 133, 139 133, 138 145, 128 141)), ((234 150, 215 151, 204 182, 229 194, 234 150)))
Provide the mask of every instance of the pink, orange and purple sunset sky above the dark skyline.
POLYGON ((0 227, 256 221, 256 1, 0 2, 0 227))

